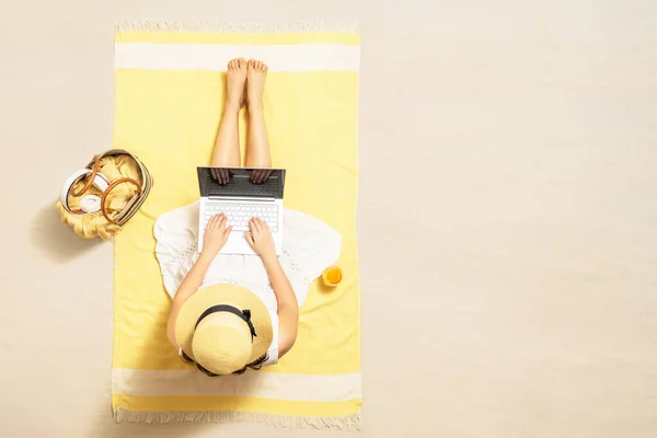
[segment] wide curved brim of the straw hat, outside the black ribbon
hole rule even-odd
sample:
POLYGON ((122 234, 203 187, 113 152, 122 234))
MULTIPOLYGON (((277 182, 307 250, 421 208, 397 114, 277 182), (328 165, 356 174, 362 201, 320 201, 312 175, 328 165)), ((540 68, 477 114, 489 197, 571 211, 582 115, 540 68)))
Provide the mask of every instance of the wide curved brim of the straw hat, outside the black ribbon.
POLYGON ((256 336, 253 338, 252 354, 247 364, 267 353, 274 338, 272 318, 267 307, 251 290, 237 285, 222 284, 199 289, 181 308, 175 322, 175 341, 187 356, 196 360, 192 350, 194 327, 200 314, 217 304, 228 304, 240 310, 249 309, 251 311, 251 322, 256 336))

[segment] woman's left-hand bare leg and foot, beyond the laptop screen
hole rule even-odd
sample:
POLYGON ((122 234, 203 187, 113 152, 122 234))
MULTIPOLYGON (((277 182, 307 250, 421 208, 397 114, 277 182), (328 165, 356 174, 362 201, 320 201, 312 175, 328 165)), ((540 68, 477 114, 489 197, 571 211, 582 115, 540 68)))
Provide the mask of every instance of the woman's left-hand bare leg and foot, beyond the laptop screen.
POLYGON ((244 82, 246 81, 246 60, 233 59, 228 62, 226 79, 226 107, 215 142, 211 165, 214 168, 242 165, 240 160, 240 132, 238 119, 244 105, 244 82))

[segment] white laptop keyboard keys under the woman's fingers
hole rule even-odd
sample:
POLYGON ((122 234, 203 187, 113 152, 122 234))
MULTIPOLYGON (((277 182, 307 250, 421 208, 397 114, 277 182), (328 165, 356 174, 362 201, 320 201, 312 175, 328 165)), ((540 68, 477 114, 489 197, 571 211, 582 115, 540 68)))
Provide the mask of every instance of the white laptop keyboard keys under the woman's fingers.
POLYGON ((227 226, 232 226, 233 231, 251 231, 249 221, 251 218, 261 218, 269 226, 272 232, 278 231, 278 206, 276 204, 222 204, 207 201, 205 204, 203 229, 208 224, 210 218, 220 212, 228 217, 227 226))

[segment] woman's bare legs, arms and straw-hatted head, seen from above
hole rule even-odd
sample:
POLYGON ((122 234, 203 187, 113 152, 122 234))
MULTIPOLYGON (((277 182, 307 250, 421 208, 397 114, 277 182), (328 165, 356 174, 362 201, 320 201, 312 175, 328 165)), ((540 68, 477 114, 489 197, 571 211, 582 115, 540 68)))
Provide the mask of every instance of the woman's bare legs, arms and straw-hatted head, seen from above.
MULTIPOLYGON (((240 58, 228 64, 226 107, 212 153, 214 168, 241 165, 238 118, 244 104, 249 111, 246 168, 272 166, 263 107, 266 74, 267 66, 262 61, 240 58)), ((268 311, 252 291, 235 285, 210 286, 196 293, 231 232, 223 215, 208 222, 203 252, 171 306, 169 341, 183 359, 210 376, 275 364, 297 338, 297 297, 276 256, 269 228, 265 221, 252 218, 250 229, 244 237, 266 268, 276 296, 275 312, 268 311)))

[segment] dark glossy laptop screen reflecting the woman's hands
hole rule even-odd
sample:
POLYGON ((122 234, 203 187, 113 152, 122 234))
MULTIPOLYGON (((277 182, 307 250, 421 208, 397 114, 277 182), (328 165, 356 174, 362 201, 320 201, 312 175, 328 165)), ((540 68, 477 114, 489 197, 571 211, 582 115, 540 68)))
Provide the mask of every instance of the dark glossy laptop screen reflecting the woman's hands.
POLYGON ((284 169, 196 168, 200 196, 283 199, 284 169))

